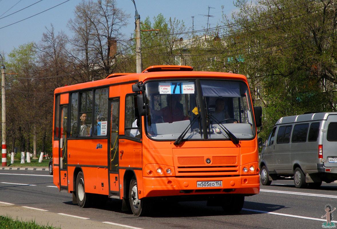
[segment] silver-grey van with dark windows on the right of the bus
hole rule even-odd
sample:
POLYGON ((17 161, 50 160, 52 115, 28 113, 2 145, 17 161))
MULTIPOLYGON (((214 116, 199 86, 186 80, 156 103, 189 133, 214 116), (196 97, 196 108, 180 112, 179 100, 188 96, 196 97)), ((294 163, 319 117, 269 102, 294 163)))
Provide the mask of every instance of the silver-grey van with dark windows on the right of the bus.
POLYGON ((280 118, 260 155, 263 185, 294 177, 296 188, 337 180, 337 112, 280 118))

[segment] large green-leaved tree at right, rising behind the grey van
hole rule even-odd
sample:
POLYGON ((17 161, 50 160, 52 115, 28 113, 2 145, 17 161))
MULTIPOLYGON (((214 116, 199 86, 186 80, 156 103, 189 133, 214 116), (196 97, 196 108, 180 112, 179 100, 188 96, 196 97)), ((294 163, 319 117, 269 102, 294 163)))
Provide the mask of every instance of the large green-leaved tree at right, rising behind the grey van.
POLYGON ((225 65, 248 76, 265 133, 282 116, 335 111, 336 5, 331 0, 246 0, 224 17, 225 65))

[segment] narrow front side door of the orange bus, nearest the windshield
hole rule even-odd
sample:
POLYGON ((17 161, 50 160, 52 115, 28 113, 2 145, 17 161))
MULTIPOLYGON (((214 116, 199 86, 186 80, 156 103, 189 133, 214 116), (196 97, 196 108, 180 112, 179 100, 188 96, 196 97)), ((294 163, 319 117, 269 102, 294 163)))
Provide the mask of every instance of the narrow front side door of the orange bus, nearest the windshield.
POLYGON ((109 149, 109 191, 110 196, 120 196, 119 192, 119 155, 118 155, 118 126, 119 126, 119 98, 111 99, 110 109, 110 147, 109 149))

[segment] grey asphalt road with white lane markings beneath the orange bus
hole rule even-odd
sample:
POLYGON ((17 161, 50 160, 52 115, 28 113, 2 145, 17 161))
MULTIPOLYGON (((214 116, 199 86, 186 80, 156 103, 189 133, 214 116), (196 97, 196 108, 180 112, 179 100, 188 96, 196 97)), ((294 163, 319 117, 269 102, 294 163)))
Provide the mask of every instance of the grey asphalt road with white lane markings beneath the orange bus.
POLYGON ((134 217, 121 210, 120 200, 95 208, 72 204, 72 195, 59 192, 48 171, 0 170, 0 214, 14 212, 12 216, 20 219, 29 211, 28 216, 42 217, 63 229, 322 228, 325 205, 337 207, 336 191, 337 183, 296 189, 292 180, 280 180, 261 185, 259 194, 246 197, 239 214, 225 214, 221 207, 207 207, 199 201, 160 203, 151 217, 134 217))

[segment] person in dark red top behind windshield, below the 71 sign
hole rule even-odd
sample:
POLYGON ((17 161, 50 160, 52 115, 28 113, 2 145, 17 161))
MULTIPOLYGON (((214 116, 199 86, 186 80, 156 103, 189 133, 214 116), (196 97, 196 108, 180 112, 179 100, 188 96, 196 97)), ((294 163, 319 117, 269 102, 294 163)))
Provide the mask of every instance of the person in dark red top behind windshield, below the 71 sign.
POLYGON ((180 94, 169 94, 166 97, 167 106, 160 110, 153 110, 153 115, 160 115, 164 122, 176 122, 186 119, 183 111, 183 105, 180 103, 180 94))

